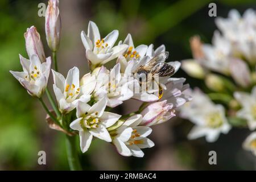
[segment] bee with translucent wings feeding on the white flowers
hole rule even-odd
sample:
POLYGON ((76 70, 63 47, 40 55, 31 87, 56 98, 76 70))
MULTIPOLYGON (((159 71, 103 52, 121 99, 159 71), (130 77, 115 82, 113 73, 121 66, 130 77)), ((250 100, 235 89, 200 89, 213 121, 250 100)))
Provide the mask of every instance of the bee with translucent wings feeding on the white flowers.
MULTIPOLYGON (((153 57, 150 61, 148 61, 146 64, 141 65, 136 73, 138 75, 144 74, 146 75, 147 82, 148 81, 154 81, 155 77, 166 77, 166 76, 172 76, 174 75, 175 68, 167 63, 164 63, 168 59, 169 52, 161 52, 155 57, 153 57), (150 75, 148 77, 148 75, 150 75)), ((140 81, 140 85, 142 85, 142 82, 140 81)), ((162 98, 163 96, 163 88, 158 84, 159 91, 158 91, 158 98, 162 98)))

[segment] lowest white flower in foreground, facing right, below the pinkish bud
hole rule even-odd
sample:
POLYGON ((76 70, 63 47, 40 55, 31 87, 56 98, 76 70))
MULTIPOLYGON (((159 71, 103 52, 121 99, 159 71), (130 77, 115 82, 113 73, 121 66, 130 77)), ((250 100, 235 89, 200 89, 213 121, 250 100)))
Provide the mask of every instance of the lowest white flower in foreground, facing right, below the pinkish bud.
POLYGON ((141 121, 142 115, 134 115, 112 132, 113 144, 117 147, 119 154, 142 158, 144 153, 141 148, 154 147, 154 142, 147 138, 152 129, 146 126, 138 126, 141 121))

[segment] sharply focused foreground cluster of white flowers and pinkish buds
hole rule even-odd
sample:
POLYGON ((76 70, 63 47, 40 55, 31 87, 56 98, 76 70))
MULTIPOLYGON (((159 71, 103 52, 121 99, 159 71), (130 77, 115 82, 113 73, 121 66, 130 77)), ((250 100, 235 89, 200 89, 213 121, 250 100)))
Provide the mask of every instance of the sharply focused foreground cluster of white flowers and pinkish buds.
POLYGON ((170 77, 179 69, 179 61, 164 63, 168 52, 163 45, 155 50, 152 44, 134 47, 130 34, 115 46, 118 30, 102 38, 96 23, 90 21, 87 34, 81 32, 90 72, 81 76, 73 67, 64 77, 56 60, 61 30, 58 5, 59 1, 50 0, 46 11, 46 38, 55 68, 50 71, 51 57, 46 58, 40 35, 32 26, 24 34, 29 59, 20 56, 23 72, 11 73, 42 102, 52 129, 69 136, 79 134, 82 152, 88 150, 94 137, 112 142, 123 156, 142 157, 141 148, 154 146, 147 138, 150 126, 170 120, 177 107, 191 100, 185 94, 189 88, 185 78, 170 77), (115 61, 113 68, 105 66, 109 61, 115 61), (57 105, 47 89, 50 72, 57 105), (53 111, 44 104, 45 90, 53 111), (141 101, 137 111, 114 113, 114 107, 130 99, 141 101))

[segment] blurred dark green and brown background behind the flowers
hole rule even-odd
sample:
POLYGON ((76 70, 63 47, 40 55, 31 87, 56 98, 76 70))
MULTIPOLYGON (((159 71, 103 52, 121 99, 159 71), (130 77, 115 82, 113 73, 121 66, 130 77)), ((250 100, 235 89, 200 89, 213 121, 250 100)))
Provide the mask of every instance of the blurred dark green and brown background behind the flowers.
MULTIPOLYGON (((40 2, 47 4, 47 1, 0 0, 0 170, 69 169, 64 134, 48 128, 44 120, 46 113, 39 102, 9 73, 9 70, 22 69, 19 53, 27 57, 23 36, 27 27, 37 27, 46 55, 50 55, 44 35, 44 17, 38 16, 40 2), (46 151, 47 165, 40 166, 38 152, 42 150, 46 151)), ((210 43, 216 30, 214 18, 208 16, 210 2, 217 4, 217 16, 225 18, 230 9, 241 13, 249 7, 256 9, 255 0, 61 0, 60 72, 66 75, 73 66, 80 68, 81 75, 88 72, 80 32, 87 30, 89 20, 97 23, 102 36, 118 29, 118 41, 131 33, 135 46, 154 43, 156 48, 165 44, 170 60, 191 58, 189 38, 197 34, 210 43)), ((175 76, 188 78, 181 70, 175 76)), ((52 77, 49 80, 51 88, 52 77)), ((192 78, 187 82, 192 87, 203 85, 192 78)), ((119 112, 123 110, 119 108, 119 112)), ((120 156, 111 144, 95 139, 89 151, 81 155, 82 165, 84 169, 94 170, 255 169, 255 157, 241 148, 249 134, 247 130, 232 129, 217 142, 206 143, 204 138, 187 140, 191 127, 190 122, 178 118, 154 126, 150 137, 155 147, 143 150, 143 159, 120 156), (216 166, 208 164, 210 150, 217 152, 216 166)))

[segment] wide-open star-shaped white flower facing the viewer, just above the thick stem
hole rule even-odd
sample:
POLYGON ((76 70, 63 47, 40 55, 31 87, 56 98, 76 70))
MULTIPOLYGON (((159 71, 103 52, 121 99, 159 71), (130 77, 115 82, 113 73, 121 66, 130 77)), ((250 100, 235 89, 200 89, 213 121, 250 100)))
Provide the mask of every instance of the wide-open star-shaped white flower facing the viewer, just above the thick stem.
POLYGON ((79 131, 82 152, 88 150, 93 136, 106 142, 112 142, 106 128, 114 125, 121 115, 104 111, 106 103, 106 99, 102 98, 93 106, 80 101, 77 105, 77 119, 70 124, 70 127, 73 130, 79 131))

